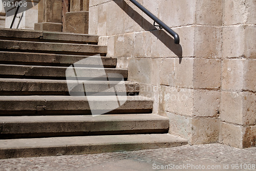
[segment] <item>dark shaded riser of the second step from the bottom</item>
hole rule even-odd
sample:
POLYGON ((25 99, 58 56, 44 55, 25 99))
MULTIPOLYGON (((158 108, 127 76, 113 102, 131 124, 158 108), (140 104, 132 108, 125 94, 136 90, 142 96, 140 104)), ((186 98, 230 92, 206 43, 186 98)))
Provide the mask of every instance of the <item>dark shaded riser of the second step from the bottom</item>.
POLYGON ((3 123, 0 138, 168 133, 168 124, 168 120, 3 123))

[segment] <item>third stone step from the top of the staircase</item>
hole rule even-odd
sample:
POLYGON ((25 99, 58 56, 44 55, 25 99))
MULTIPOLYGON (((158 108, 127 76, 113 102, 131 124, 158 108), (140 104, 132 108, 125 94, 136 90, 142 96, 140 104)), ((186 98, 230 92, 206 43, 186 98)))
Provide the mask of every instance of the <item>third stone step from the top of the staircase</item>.
MULTIPOLYGON (((0 63, 12 65, 69 67, 73 63, 87 57, 89 56, 0 51, 0 63)), ((90 56, 90 60, 84 60, 83 64, 91 67, 99 67, 97 65, 98 58, 101 58, 104 68, 116 67, 116 58, 104 56, 90 56)))

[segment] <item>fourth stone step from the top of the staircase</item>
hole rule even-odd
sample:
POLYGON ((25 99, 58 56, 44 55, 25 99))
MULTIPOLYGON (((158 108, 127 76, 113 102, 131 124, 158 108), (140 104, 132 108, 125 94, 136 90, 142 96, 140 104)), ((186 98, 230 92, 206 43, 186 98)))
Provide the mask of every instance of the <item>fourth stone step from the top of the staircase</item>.
MULTIPOLYGON (((79 77, 69 78, 79 79, 100 79, 99 73, 106 73, 109 77, 115 78, 113 74, 121 74, 124 79, 128 77, 126 69, 112 68, 74 68, 79 77)), ((33 79, 66 79, 67 67, 51 67, 51 66, 25 66, 25 65, 0 65, 0 77, 2 78, 33 78, 33 79)), ((67 70, 67 73, 75 75, 73 68, 67 70), (72 74, 73 72, 73 74, 72 74)), ((103 77, 102 77, 103 78, 103 77)), ((104 79, 105 80, 105 79, 104 79)))

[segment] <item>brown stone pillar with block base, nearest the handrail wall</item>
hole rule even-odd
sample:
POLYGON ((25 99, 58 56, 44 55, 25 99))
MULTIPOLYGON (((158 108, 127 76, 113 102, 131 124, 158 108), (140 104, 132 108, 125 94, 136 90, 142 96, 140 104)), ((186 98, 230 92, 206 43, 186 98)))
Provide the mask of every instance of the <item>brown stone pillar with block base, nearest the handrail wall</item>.
POLYGON ((71 0, 66 13, 66 32, 88 34, 89 0, 71 0))

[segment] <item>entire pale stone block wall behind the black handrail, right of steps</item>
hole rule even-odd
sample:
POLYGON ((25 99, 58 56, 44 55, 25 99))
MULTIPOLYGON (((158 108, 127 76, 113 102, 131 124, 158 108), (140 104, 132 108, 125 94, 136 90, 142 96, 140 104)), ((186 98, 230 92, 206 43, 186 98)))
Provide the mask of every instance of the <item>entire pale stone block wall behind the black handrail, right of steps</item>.
POLYGON ((129 68, 154 113, 169 117, 169 133, 190 144, 255 146, 255 1, 138 2, 180 35, 180 45, 129 0, 90 0, 89 34, 129 68))

